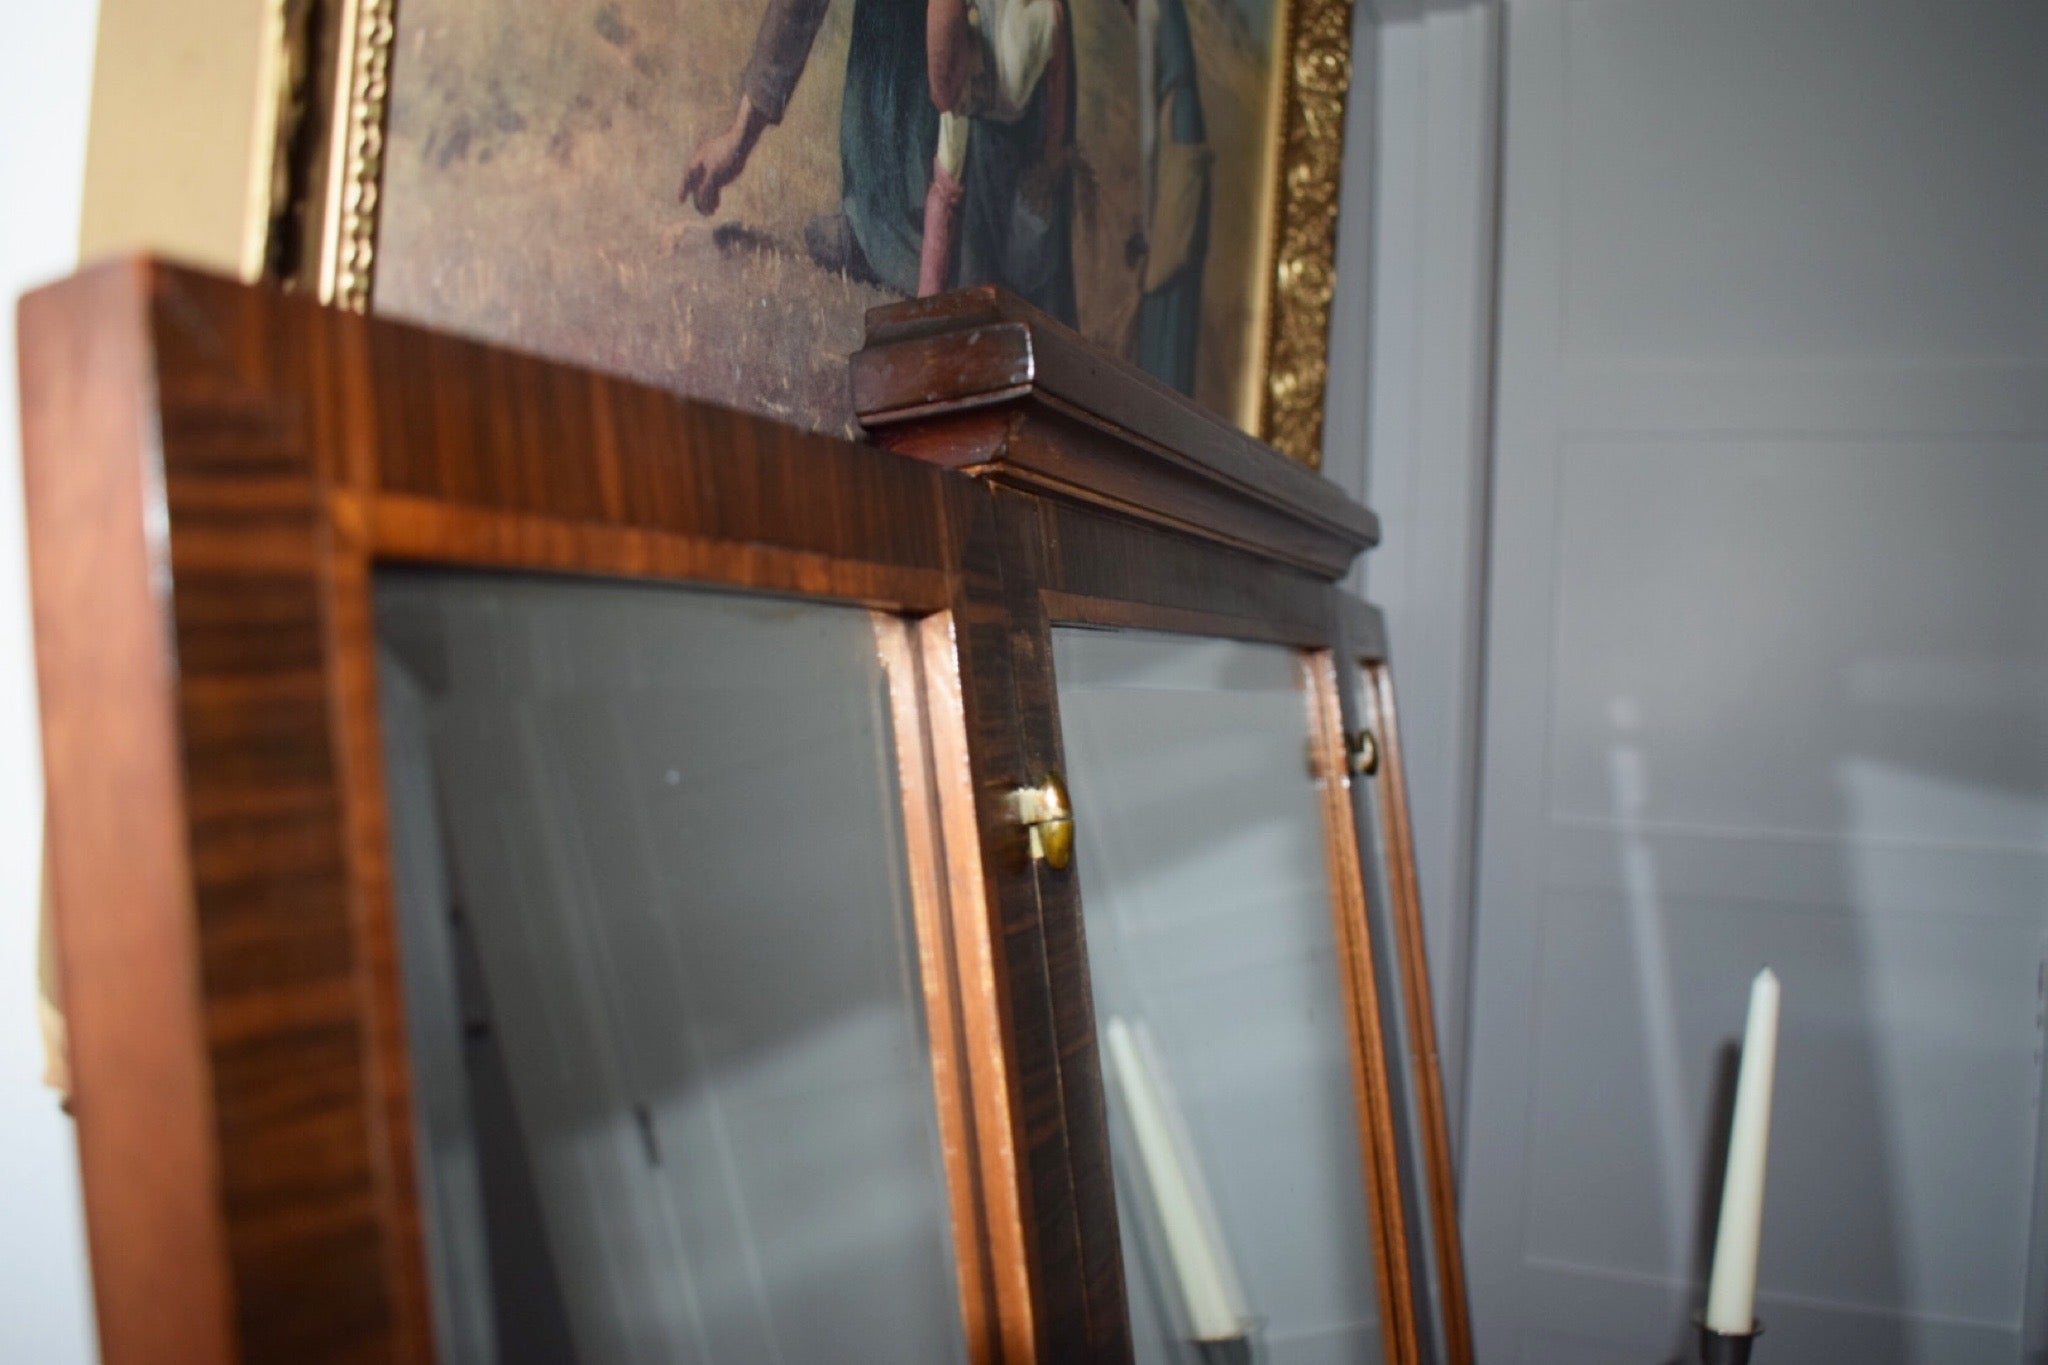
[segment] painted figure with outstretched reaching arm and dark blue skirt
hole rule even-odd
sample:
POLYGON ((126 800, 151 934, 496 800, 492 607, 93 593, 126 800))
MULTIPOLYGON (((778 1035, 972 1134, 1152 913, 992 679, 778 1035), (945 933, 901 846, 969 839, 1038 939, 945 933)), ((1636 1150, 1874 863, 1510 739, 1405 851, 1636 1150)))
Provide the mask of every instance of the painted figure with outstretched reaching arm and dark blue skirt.
MULTIPOLYGON (((733 121, 682 196, 698 213, 780 123, 829 0, 768 0, 733 121)), ((1073 35, 1065 0, 854 0, 840 213, 805 227, 821 266, 897 293, 1004 284, 1075 323, 1073 35)))

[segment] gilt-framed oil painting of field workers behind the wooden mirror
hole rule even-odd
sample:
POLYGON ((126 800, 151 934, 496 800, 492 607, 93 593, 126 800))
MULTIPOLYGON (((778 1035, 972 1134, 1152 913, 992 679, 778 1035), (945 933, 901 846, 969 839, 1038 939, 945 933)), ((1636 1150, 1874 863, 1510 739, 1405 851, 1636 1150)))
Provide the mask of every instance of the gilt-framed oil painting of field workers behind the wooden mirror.
POLYGON ((868 307, 1004 284, 1317 463, 1350 0, 346 0, 322 297, 850 434, 868 307))

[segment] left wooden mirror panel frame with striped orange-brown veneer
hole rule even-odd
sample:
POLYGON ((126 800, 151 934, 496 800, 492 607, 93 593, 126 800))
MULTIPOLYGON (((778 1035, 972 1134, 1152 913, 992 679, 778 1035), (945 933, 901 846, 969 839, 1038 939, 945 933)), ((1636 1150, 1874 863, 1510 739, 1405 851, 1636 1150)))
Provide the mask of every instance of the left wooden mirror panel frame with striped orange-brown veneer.
MULTIPOLYGON (((379 565, 887 614, 922 982, 975 1361, 1042 1353, 1022 835, 973 647, 971 479, 655 389, 115 262, 20 313, 53 927, 100 1349, 434 1353, 399 980, 379 565), (965 643, 965 645, 956 645, 965 643), (973 667, 961 667, 963 653, 973 667), (973 737, 973 741, 969 741, 973 737), (1008 950, 1008 956, 1006 956, 1008 950)), ((983 632, 985 634, 985 632, 983 632)), ((1014 780, 1022 780, 1018 774, 1014 780)), ((1042 966, 1038 968, 1042 974, 1042 966)), ((1057 1257, 1051 1261, 1057 1267, 1057 1257)), ((1049 1334, 1051 1336, 1051 1334, 1049 1334)))

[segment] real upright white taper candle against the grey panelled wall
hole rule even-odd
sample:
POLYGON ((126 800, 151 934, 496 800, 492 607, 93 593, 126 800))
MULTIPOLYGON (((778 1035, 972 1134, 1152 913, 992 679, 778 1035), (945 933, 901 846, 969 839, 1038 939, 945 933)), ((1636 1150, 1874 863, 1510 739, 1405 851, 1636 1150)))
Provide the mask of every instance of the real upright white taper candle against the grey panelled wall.
POLYGON ((1763 1240, 1763 1164, 1772 1140, 1772 1076, 1778 1072, 1778 974, 1757 972, 1743 1029, 1743 1072, 1735 1083, 1729 1173, 1720 1185, 1720 1234, 1706 1281, 1706 1326, 1747 1336, 1757 1320, 1757 1248, 1763 1240))

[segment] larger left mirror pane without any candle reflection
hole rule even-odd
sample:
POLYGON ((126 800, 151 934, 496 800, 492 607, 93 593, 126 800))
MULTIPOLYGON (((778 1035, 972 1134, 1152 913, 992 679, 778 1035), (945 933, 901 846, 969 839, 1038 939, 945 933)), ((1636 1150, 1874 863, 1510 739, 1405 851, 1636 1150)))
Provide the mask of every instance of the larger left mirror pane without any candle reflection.
POLYGON ((442 1357, 963 1359, 854 608, 389 573, 442 1357))

